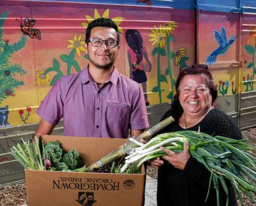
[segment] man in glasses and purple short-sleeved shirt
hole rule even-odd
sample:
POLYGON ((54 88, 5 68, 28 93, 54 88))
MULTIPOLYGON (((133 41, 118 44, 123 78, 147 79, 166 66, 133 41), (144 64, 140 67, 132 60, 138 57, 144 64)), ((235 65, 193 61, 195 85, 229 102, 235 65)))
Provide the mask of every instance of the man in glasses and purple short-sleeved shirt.
POLYGON ((42 101, 42 118, 35 136, 51 134, 63 117, 66 136, 127 138, 147 128, 145 100, 140 85, 119 74, 114 62, 119 32, 111 19, 100 18, 86 29, 87 67, 60 78, 42 101))

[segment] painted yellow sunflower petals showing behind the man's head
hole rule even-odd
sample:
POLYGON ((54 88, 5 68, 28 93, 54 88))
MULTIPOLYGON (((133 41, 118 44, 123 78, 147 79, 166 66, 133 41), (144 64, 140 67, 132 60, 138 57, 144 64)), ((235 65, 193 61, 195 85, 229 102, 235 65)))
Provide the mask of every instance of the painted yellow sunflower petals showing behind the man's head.
MULTIPOLYGON (((91 16, 85 15, 86 20, 91 23, 92 21, 101 18, 99 12, 97 9, 94 9, 94 18, 92 18, 91 16)), ((109 9, 107 9, 106 11, 104 11, 102 18, 109 18, 109 9)), ((121 24, 124 21, 124 18, 121 16, 117 16, 115 18, 112 18, 113 22, 115 22, 118 26, 118 31, 121 33, 124 33, 124 30, 122 27, 119 27, 119 24, 121 24)), ((88 23, 82 22, 81 25, 86 29, 88 26, 88 23)))

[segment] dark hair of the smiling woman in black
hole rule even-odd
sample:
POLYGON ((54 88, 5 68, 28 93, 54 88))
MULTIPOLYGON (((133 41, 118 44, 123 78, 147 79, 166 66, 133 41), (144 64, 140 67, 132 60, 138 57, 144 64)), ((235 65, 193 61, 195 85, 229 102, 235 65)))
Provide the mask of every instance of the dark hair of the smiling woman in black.
POLYGON ((210 95, 212 96, 212 105, 217 98, 218 91, 214 85, 213 76, 210 71, 201 67, 193 67, 190 70, 181 71, 176 80, 176 94, 172 102, 172 117, 177 121, 183 113, 183 108, 179 102, 179 87, 182 84, 182 80, 186 75, 201 75, 206 81, 206 85, 209 88, 210 95))

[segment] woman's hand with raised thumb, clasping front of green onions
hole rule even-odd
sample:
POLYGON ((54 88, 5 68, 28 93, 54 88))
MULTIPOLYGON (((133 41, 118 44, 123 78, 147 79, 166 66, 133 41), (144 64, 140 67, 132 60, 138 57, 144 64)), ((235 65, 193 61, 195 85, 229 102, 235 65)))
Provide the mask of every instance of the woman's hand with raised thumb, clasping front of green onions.
POLYGON ((180 170, 184 169, 188 159, 191 157, 189 153, 188 141, 186 141, 184 144, 184 151, 180 153, 175 153, 169 149, 165 149, 164 147, 160 147, 160 149, 167 153, 167 156, 163 156, 162 158, 180 170))

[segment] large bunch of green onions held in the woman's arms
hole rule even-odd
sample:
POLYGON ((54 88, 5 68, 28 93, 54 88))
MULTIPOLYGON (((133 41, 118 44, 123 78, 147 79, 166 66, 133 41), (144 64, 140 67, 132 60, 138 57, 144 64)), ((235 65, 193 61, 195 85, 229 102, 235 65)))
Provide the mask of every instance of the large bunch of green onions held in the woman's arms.
MULTIPOLYGON (((182 152, 184 143, 188 141, 190 155, 204 164, 211 173, 209 188, 213 181, 218 205, 220 205, 218 180, 229 196, 224 177, 231 182, 242 205, 244 204, 241 192, 256 202, 254 199, 256 196, 255 184, 248 180, 256 183, 256 158, 250 155, 253 153, 249 151, 256 148, 248 144, 248 139, 233 140, 222 136, 213 137, 202 132, 180 131, 157 135, 146 144, 132 140, 132 138, 129 140, 137 143, 140 147, 132 149, 130 155, 126 157, 121 172, 128 164, 136 163, 140 167, 149 159, 167 155, 159 148, 160 146, 175 153, 182 152), (247 143, 245 143, 246 141, 247 143)), ((229 198, 227 205, 228 202, 229 198)))

